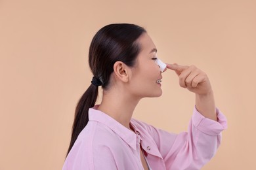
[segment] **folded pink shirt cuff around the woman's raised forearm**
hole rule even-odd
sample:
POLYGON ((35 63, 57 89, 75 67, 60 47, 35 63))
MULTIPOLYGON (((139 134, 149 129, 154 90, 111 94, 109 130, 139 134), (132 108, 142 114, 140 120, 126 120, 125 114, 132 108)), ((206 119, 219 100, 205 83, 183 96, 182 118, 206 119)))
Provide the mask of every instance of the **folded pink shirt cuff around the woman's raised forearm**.
POLYGON ((195 106, 192 116, 192 124, 196 127, 196 129, 207 135, 219 135, 221 131, 227 128, 227 121, 224 114, 218 108, 216 108, 216 114, 218 121, 205 118, 205 116, 198 112, 195 106))

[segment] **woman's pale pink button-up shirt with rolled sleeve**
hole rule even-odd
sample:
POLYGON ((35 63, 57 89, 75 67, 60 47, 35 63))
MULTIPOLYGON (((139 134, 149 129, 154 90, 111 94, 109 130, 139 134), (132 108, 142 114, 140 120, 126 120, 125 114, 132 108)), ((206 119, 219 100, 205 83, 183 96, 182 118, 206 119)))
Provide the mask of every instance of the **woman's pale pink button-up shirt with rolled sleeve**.
POLYGON ((137 170, 140 144, 153 170, 201 169, 216 153, 226 118, 217 109, 218 122, 205 118, 196 107, 188 132, 169 133, 131 119, 136 133, 96 108, 70 150, 62 170, 137 170))

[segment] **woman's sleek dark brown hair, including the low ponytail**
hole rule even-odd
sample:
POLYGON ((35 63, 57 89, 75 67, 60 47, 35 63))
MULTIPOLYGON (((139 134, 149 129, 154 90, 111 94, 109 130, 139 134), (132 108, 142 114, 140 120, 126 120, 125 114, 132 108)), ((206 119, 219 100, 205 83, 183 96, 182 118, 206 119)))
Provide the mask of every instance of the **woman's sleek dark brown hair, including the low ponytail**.
MULTIPOLYGON (((93 37, 89 48, 89 66, 95 78, 102 82, 103 89, 108 88, 116 61, 122 61, 129 67, 135 65, 135 59, 140 52, 137 39, 145 32, 144 28, 134 24, 110 24, 102 27, 93 37)), ((79 133, 87 125, 88 110, 94 107, 97 96, 98 86, 91 84, 79 99, 68 153, 79 133)))

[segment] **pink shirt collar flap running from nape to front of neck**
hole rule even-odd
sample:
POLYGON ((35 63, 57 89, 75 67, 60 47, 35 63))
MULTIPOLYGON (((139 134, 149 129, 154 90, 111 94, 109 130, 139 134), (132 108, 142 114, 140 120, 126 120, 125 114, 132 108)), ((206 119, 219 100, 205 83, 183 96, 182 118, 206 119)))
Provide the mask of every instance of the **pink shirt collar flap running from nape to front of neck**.
POLYGON ((117 122, 114 118, 108 116, 108 114, 105 114, 96 108, 97 107, 93 107, 89 109, 89 121, 100 122, 109 127, 112 129, 112 131, 119 135, 119 137, 121 137, 125 143, 136 150, 137 135, 133 131, 127 129, 127 127, 117 122))

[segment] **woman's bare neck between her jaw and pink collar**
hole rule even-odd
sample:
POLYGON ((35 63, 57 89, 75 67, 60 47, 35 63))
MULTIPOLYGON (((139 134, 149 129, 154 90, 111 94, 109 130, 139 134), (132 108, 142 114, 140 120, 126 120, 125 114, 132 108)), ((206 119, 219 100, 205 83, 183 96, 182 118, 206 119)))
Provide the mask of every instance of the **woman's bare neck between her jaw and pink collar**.
POLYGON ((120 95, 117 92, 103 91, 102 102, 98 110, 108 114, 123 126, 131 129, 129 124, 139 100, 125 95, 125 93, 120 95))

